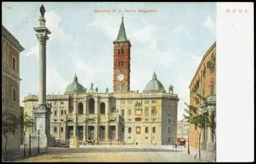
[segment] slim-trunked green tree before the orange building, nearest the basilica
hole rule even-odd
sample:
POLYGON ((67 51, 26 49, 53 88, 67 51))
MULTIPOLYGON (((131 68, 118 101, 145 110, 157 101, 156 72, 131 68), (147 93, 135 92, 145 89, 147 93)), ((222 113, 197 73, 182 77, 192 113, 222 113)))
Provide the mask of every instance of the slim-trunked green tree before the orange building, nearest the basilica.
MULTIPOLYGON (((196 94, 194 97, 194 100, 196 102, 200 101, 200 96, 196 94)), ((207 103, 207 102, 206 102, 207 103)), ((187 108, 184 109, 184 111, 187 114, 183 114, 184 118, 187 119, 187 122, 189 124, 194 124, 195 130, 197 131, 199 135, 199 159, 201 159, 201 134, 202 134, 202 129, 206 127, 207 123, 207 114, 202 114, 201 112, 205 111, 205 107, 203 106, 202 108, 199 106, 193 106, 193 105, 188 105, 185 103, 187 108)))

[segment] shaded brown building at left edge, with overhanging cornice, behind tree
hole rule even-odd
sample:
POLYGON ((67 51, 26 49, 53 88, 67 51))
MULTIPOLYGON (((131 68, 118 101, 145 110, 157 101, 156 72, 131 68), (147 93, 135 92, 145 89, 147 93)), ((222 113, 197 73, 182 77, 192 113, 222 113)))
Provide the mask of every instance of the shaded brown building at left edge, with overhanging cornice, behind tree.
MULTIPOLYGON (((19 53, 24 51, 19 41, 2 25, 2 111, 20 116, 19 109, 19 53)), ((5 137, 2 135, 2 148, 5 137)), ((8 135, 8 150, 18 151, 20 129, 8 135)))

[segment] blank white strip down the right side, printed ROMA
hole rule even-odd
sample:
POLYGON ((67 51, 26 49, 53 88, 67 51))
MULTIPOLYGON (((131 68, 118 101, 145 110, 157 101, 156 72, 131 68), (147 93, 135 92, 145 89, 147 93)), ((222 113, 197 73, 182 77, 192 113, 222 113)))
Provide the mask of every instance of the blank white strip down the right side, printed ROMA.
POLYGON ((217 3, 218 162, 254 161, 253 34, 253 3, 217 3))

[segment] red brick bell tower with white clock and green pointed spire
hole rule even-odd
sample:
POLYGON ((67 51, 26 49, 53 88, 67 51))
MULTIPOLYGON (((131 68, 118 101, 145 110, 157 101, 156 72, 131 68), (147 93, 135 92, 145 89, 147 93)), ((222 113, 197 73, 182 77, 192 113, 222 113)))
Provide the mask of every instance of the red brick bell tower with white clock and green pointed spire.
POLYGON ((130 90, 130 49, 131 43, 126 38, 123 24, 121 26, 114 44, 114 73, 113 73, 113 91, 114 93, 126 93, 130 90))

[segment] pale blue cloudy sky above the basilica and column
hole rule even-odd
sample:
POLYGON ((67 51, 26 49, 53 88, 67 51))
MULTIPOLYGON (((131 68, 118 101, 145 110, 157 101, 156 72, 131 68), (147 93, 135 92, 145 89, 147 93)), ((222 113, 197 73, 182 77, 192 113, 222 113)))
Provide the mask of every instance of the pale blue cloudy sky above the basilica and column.
POLYGON ((121 24, 120 10, 132 44, 130 89, 142 92, 155 70, 166 91, 173 85, 180 99, 178 120, 183 118, 188 86, 204 53, 216 41, 216 3, 2 3, 2 24, 25 48, 20 53, 20 106, 25 96, 39 90, 39 48, 33 28, 38 26, 41 4, 52 32, 46 45, 47 95, 63 94, 75 74, 87 89, 93 83, 99 92, 106 87, 113 92, 113 40, 121 24))

